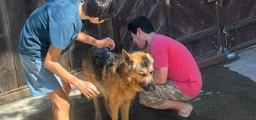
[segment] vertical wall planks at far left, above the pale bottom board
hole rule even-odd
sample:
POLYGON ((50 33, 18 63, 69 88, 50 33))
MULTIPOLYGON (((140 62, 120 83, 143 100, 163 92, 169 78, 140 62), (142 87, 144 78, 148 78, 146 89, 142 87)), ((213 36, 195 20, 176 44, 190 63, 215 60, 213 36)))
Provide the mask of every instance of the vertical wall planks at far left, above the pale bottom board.
MULTIPOLYGON (((20 37, 20 30, 26 22, 29 14, 41 5, 41 1, 29 0, 2 0, 0 1, 1 27, 3 37, 1 46, 4 51, 1 52, 0 70, 3 77, 0 80, 0 93, 8 92, 12 89, 25 86, 26 80, 23 74, 23 68, 20 64, 20 57, 17 52, 17 41, 20 37)), ((0 75, 0 76, 1 76, 0 75)))

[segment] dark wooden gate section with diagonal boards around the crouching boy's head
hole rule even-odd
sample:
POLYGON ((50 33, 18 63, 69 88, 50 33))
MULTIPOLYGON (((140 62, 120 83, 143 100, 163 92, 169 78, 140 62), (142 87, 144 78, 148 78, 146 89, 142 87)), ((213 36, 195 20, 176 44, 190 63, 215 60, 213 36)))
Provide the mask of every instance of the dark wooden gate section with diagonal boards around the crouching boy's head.
POLYGON ((133 40, 126 26, 135 17, 148 17, 159 34, 169 35, 166 13, 162 0, 118 0, 117 16, 99 25, 100 37, 111 37, 116 43, 116 50, 133 48, 133 40))

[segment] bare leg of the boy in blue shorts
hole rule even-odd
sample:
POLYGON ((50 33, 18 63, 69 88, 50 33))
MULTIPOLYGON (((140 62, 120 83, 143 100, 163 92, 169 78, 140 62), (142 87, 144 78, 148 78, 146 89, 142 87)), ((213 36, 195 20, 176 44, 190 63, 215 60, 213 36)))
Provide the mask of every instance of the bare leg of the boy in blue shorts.
POLYGON ((52 102, 53 120, 69 120, 69 100, 62 89, 47 93, 52 102))

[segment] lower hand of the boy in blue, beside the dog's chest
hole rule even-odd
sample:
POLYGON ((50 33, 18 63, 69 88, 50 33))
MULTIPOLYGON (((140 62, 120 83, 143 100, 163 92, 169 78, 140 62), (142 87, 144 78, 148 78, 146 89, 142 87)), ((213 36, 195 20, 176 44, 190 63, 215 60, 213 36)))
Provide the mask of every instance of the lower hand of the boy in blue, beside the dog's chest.
POLYGON ((78 87, 79 91, 88 99, 99 95, 99 92, 93 83, 80 80, 76 87, 78 87))

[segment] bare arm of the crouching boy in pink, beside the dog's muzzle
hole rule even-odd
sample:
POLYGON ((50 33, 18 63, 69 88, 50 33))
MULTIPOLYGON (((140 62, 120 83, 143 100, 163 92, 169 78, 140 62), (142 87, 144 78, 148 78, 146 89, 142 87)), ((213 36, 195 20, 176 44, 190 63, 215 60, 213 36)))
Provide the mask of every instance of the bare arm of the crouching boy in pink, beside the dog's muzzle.
POLYGON ((153 80, 155 84, 165 84, 167 80, 168 68, 163 67, 154 71, 153 80))

